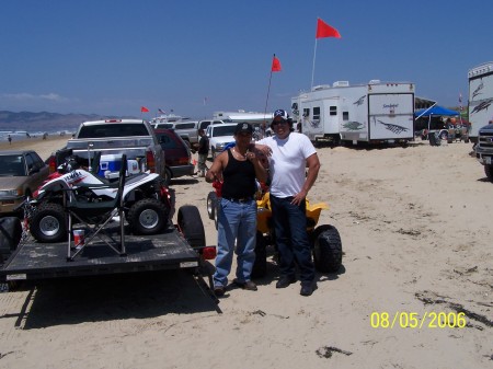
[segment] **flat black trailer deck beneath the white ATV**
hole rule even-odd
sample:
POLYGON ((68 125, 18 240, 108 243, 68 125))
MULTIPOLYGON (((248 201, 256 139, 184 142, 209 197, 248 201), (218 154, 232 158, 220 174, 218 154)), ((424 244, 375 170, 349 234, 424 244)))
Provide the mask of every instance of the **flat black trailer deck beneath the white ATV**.
POLYGON ((38 243, 27 240, 0 268, 0 280, 34 280, 196 268, 198 253, 176 229, 152 237, 125 235, 126 255, 119 256, 103 242, 88 245, 67 261, 67 242, 38 243))

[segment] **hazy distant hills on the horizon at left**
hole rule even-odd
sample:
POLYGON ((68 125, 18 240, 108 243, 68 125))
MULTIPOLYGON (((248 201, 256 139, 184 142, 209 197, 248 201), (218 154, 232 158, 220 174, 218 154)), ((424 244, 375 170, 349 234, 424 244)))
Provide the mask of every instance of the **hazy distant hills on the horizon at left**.
POLYGON ((82 122, 133 117, 102 116, 96 114, 59 114, 0 111, 0 130, 57 131, 76 129, 82 122))

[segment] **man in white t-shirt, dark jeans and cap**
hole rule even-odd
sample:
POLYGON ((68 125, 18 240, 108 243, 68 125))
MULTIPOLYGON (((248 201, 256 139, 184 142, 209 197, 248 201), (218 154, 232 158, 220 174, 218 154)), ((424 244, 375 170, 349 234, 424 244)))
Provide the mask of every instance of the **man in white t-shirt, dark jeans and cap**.
POLYGON ((286 288, 296 281, 298 264, 300 293, 310 296, 317 284, 307 233, 306 197, 319 174, 320 161, 310 139, 293 131, 291 125, 284 109, 275 111, 271 124, 274 135, 257 141, 255 147, 271 157, 270 198, 280 258, 276 288, 286 288))

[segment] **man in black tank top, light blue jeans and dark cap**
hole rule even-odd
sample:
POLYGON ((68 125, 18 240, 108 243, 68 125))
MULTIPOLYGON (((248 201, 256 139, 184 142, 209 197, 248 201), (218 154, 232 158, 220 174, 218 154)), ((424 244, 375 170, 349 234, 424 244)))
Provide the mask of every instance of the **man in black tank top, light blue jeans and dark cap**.
POLYGON ((255 262, 256 243, 256 182, 265 182, 267 172, 254 152, 249 151, 253 127, 239 123, 234 129, 236 146, 221 152, 207 171, 206 181, 222 182, 222 197, 218 208, 217 257, 214 274, 214 292, 225 295, 232 258, 237 257, 233 282, 246 290, 256 291, 251 280, 255 262))

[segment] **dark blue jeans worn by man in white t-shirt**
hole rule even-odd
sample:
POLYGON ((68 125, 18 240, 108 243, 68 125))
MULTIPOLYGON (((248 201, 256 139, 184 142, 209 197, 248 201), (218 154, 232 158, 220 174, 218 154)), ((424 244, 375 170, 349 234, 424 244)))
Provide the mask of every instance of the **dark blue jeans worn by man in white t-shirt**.
POLYGON ((300 205, 293 205, 291 200, 293 197, 280 198, 271 195, 280 275, 294 277, 298 264, 301 285, 311 284, 316 273, 307 233, 307 204, 302 201, 300 205))

